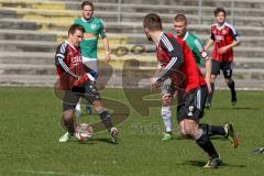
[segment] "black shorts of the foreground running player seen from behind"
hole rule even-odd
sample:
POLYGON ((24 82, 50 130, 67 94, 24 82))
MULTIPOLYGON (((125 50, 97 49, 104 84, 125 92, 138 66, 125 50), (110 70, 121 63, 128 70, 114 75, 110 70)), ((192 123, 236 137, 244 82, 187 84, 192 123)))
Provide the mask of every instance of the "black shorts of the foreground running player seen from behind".
POLYGON ((204 117, 204 109, 207 99, 207 86, 196 88, 188 94, 178 95, 177 120, 198 120, 204 117))

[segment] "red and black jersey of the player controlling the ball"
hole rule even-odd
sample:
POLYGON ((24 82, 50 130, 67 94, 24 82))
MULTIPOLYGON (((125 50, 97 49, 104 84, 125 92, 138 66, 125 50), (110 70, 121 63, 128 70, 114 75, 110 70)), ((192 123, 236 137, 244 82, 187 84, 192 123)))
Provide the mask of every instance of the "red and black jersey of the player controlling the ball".
POLYGON ((69 90, 78 76, 85 75, 79 47, 72 46, 67 41, 57 46, 55 65, 59 77, 59 88, 69 90))

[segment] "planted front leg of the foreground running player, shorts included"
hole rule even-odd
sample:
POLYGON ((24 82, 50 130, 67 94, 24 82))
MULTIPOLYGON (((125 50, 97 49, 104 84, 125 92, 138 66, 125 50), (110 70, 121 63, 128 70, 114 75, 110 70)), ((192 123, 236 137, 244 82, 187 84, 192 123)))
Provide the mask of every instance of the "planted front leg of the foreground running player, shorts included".
POLYGON ((221 165, 219 154, 210 141, 210 135, 199 127, 199 119, 204 116, 206 97, 206 86, 186 95, 185 103, 178 106, 177 119, 180 133, 194 139, 198 146, 208 154, 209 163, 206 166, 217 168, 221 165))

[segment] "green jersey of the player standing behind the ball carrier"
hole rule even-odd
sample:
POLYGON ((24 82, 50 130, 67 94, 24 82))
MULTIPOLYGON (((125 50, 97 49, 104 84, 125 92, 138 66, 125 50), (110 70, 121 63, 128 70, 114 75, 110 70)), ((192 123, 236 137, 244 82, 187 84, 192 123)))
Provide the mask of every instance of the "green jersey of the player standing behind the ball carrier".
POLYGON ((79 24, 85 28, 84 40, 80 43, 80 52, 85 59, 96 61, 97 59, 97 44, 99 35, 106 37, 106 30, 103 21, 99 18, 91 18, 89 21, 76 19, 74 24, 79 24))

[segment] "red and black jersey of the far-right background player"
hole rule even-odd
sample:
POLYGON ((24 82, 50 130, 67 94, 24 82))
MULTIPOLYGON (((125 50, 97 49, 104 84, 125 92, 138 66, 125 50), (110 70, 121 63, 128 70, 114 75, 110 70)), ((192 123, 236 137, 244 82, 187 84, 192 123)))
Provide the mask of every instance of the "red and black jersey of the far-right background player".
POLYGON ((212 59, 219 62, 232 62, 233 61, 233 48, 229 48, 227 52, 220 54, 219 48, 227 46, 233 41, 239 41, 239 34, 235 29, 229 24, 223 23, 222 26, 218 26, 218 24, 211 25, 211 40, 215 41, 212 59))

